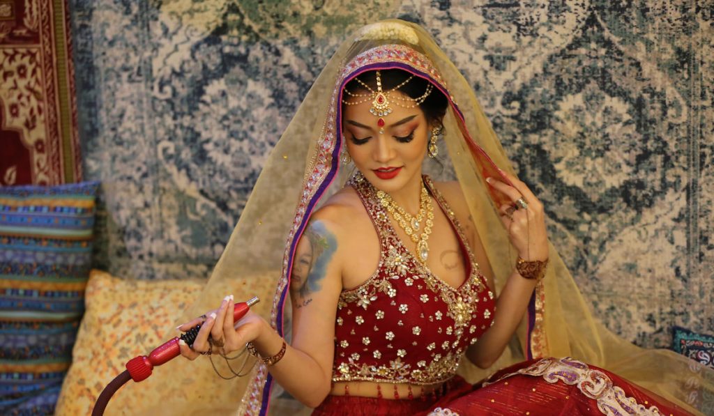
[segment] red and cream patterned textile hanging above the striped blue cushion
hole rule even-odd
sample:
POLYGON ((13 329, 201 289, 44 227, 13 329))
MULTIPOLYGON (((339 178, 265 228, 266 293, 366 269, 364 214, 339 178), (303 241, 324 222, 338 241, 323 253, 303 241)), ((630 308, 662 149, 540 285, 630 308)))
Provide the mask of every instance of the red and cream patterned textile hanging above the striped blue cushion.
POLYGON ((78 136, 66 1, 0 1, 0 186, 81 181, 78 136))

